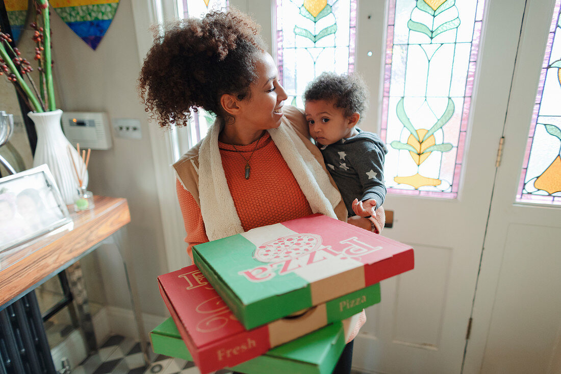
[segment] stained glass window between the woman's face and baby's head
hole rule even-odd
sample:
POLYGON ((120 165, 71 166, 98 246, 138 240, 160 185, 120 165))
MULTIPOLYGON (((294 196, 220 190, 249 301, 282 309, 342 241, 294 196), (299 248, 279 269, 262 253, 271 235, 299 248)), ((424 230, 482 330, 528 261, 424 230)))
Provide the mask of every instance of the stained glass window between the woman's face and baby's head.
POLYGON ((277 0, 277 64, 288 102, 324 71, 355 69, 356 0, 277 0))

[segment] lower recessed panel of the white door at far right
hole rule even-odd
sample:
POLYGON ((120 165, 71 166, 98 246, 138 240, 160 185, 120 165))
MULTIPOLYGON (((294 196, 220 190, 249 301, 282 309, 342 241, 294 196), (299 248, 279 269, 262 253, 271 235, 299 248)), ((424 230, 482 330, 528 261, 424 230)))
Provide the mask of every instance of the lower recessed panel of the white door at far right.
POLYGON ((561 230, 508 225, 481 373, 545 373, 561 327, 561 230))

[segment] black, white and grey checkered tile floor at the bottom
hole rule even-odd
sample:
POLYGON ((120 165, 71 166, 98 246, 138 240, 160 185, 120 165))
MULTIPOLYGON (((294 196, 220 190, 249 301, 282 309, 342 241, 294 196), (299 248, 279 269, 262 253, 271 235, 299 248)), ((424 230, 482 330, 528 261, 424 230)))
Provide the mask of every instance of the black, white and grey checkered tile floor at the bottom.
MULTIPOLYGON (((140 343, 121 335, 113 335, 99 348, 98 353, 88 357, 72 374, 200 374, 190 361, 157 355, 148 349, 150 365, 146 366, 140 352, 140 343)), ((219 370, 216 374, 229 374, 219 370)))

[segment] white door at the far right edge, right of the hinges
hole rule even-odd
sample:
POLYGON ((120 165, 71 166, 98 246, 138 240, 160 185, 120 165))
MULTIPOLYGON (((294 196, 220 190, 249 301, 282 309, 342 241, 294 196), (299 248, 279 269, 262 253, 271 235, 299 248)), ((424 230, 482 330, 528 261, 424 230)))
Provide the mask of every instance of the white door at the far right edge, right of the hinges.
MULTIPOLYGON (((545 199, 542 205, 517 203, 515 199, 528 130, 536 122, 532 111, 534 103, 539 102, 536 101, 537 81, 546 40, 555 30, 557 39, 545 66, 561 59, 560 3, 559 0, 527 2, 465 372, 561 372, 561 206, 559 202, 545 204, 545 199), (555 21, 550 27, 553 14, 555 21)), ((533 144, 530 160, 535 152, 541 152, 538 157, 544 165, 551 166, 548 170, 553 173, 550 176, 555 185, 550 191, 554 193, 561 190, 561 165, 554 161, 559 161, 561 139, 560 134, 545 134, 544 124, 554 123, 561 128, 561 74, 556 68, 544 70, 548 76, 537 112, 536 134, 541 131, 545 135, 549 150, 544 150, 543 144, 533 144), (557 102, 548 103, 552 98, 557 102)), ((551 133, 557 132, 554 127, 549 129, 551 133)))

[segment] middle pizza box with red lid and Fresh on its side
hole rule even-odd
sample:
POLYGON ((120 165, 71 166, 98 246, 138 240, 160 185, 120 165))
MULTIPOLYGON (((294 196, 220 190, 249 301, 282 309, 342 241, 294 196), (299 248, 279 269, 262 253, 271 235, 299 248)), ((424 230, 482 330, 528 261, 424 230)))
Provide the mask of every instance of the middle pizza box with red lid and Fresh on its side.
POLYGON ((201 372, 236 366, 380 302, 380 285, 374 284, 246 330, 195 265, 160 275, 158 283, 165 305, 201 372))

